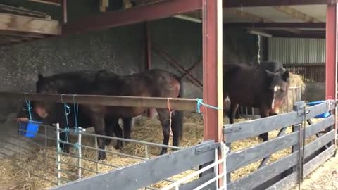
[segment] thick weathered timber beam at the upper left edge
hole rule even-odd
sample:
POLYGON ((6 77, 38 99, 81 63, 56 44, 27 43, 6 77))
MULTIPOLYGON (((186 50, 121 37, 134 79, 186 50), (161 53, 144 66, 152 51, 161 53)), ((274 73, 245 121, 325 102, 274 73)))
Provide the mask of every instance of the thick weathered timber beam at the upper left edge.
POLYGON ((61 25, 58 20, 0 13, 0 30, 58 35, 61 25))

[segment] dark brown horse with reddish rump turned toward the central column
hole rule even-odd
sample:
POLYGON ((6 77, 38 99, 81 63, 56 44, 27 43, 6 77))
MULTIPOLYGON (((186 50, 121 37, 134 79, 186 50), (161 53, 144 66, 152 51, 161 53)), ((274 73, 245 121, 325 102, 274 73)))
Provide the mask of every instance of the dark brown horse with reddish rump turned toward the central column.
MULTIPOLYGON (((71 80, 71 79, 68 79, 71 80)), ((67 82, 68 80, 63 80, 67 82)), ((89 86, 80 85, 75 87, 82 89, 82 94, 98 94, 111 96, 151 96, 177 98, 182 96, 182 84, 180 79, 165 70, 149 70, 133 75, 119 76, 113 72, 101 71, 96 73, 94 83, 89 86)), ((50 88, 37 87, 40 93, 50 92, 50 88)), ((80 93, 79 93, 80 94, 80 93)), ((51 107, 45 103, 35 103, 35 112, 42 118, 49 115, 51 107)), ((132 118, 141 115, 146 108, 127 108, 118 106, 89 106, 81 107, 91 123, 95 127, 96 134, 105 135, 105 120, 116 120, 117 118, 132 118)), ((163 127, 163 144, 168 145, 170 137, 170 118, 171 129, 173 131, 173 146, 179 145, 179 139, 182 137, 182 112, 168 109, 156 108, 159 120, 163 127), (172 117, 170 117, 170 114, 172 117)), ((106 139, 99 138, 99 148, 104 149, 106 139)), ((161 154, 166 153, 167 148, 162 148, 161 154)), ((99 159, 105 159, 106 153, 99 151, 99 159)))

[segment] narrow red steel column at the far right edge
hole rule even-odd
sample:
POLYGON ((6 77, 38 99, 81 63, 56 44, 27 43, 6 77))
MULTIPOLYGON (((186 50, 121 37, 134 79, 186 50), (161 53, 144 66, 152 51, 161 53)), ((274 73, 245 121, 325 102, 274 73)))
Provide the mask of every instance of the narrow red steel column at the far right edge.
POLYGON ((325 97, 336 98, 336 65, 337 65, 337 4, 328 4, 326 13, 326 77, 325 97))

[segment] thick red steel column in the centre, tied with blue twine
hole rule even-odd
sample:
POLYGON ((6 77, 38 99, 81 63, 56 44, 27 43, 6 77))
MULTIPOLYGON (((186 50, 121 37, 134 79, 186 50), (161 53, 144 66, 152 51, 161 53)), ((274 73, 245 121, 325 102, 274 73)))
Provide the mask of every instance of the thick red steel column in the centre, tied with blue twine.
MULTIPOLYGON (((203 0, 203 101, 223 108, 222 0, 203 0)), ((204 139, 222 141, 223 110, 204 108, 204 139)))

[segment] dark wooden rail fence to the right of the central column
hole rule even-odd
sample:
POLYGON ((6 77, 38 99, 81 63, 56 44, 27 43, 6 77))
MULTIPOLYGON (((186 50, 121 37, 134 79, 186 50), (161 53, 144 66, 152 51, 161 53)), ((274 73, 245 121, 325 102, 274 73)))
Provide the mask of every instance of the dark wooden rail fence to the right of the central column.
MULTIPOLYGON (((241 122, 233 125, 225 125, 223 131, 225 143, 227 143, 228 146, 234 141, 239 141, 249 137, 256 137, 263 132, 281 129, 280 135, 275 139, 270 139, 270 141, 265 141, 261 144, 229 153, 227 155, 228 179, 230 179, 231 172, 234 172, 241 167, 261 160, 262 158, 270 158, 270 155, 277 151, 282 151, 285 148, 297 146, 297 144, 299 144, 300 131, 284 134, 286 127, 299 125, 304 122, 304 120, 314 118, 317 115, 333 110, 336 106, 334 101, 327 101, 316 106, 305 108, 307 114, 306 118, 304 118, 302 113, 304 113, 305 103, 301 102, 297 104, 298 106, 295 107, 294 111, 290 113, 275 115, 259 120, 250 120, 248 122, 241 122)), ((304 165, 304 177, 334 154, 335 146, 331 143, 335 139, 335 130, 332 127, 334 122, 335 115, 330 115, 330 117, 306 127, 306 139, 318 134, 318 132, 321 132, 325 129, 328 130, 326 130, 325 135, 318 136, 318 139, 315 139, 305 146, 304 158, 309 161, 304 165), (325 146, 327 147, 325 151, 319 153, 317 156, 314 156, 315 153, 318 153, 320 148, 325 148, 325 146)), ((302 132, 303 130, 301 133, 302 132)), ((284 158, 276 160, 270 165, 265 165, 267 161, 265 159, 263 161, 264 164, 258 167, 256 171, 251 172, 249 175, 246 175, 233 182, 230 182, 229 180, 227 182, 227 189, 237 190, 268 188, 272 190, 283 189, 285 187, 290 188, 297 182, 298 175, 297 170, 295 170, 296 167, 294 166, 299 163, 298 156, 299 150, 293 148, 292 153, 285 156, 284 158), (291 172, 286 173, 288 172, 287 170, 291 172)))

